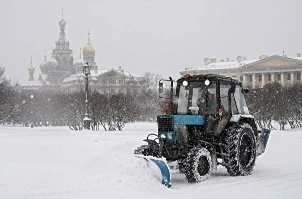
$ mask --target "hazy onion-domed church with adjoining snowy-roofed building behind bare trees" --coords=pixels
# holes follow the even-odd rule
[[[41,73],[38,79],[34,80],[33,74],[36,70],[30,59],[28,82],[16,89],[76,91],[83,88],[82,66],[86,62],[91,66],[88,80],[90,89],[97,89],[102,93],[116,93],[140,90],[145,87],[142,76],[124,71],[122,66],[119,66],[118,69],[98,68],[95,62],[95,48],[90,41],[90,31],[88,31],[87,44],[82,50],[80,48],[79,59],[74,62],[73,51],[69,48],[69,41],[65,35],[66,21],[63,19],[63,14],[58,24],[60,26],[59,38],[55,41],[55,48],[51,48],[51,57],[48,60],[46,59],[46,50],[44,50],[44,60],[39,65]]]

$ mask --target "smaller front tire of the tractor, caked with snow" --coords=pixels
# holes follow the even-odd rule
[[[206,148],[194,147],[184,162],[184,173],[188,182],[205,180],[212,170],[211,154]]]

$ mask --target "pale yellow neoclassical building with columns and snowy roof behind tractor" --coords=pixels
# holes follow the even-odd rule
[[[259,59],[247,60],[238,56],[236,60],[223,60],[217,62],[216,58],[205,58],[202,66],[186,67],[180,71],[186,73],[216,73],[232,76],[240,79],[244,86],[263,87],[266,83],[278,81],[286,86],[296,82],[302,82],[302,57],[297,53],[296,57],[280,55],[261,55]]]

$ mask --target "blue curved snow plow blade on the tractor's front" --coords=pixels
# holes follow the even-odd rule
[[[169,169],[169,166],[167,162],[162,158],[157,158],[154,156],[145,156],[145,155],[138,155],[135,154],[136,157],[142,158],[147,162],[147,165],[149,168],[154,169],[154,166],[156,165],[161,172],[161,183],[170,188],[172,186],[171,184],[171,172]]]

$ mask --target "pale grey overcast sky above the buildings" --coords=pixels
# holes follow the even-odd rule
[[[6,76],[26,82],[32,55],[37,79],[44,48],[48,59],[59,37],[61,8],[74,60],[89,29],[99,69],[123,64],[177,78],[205,57],[302,52],[302,0],[1,0]]]

